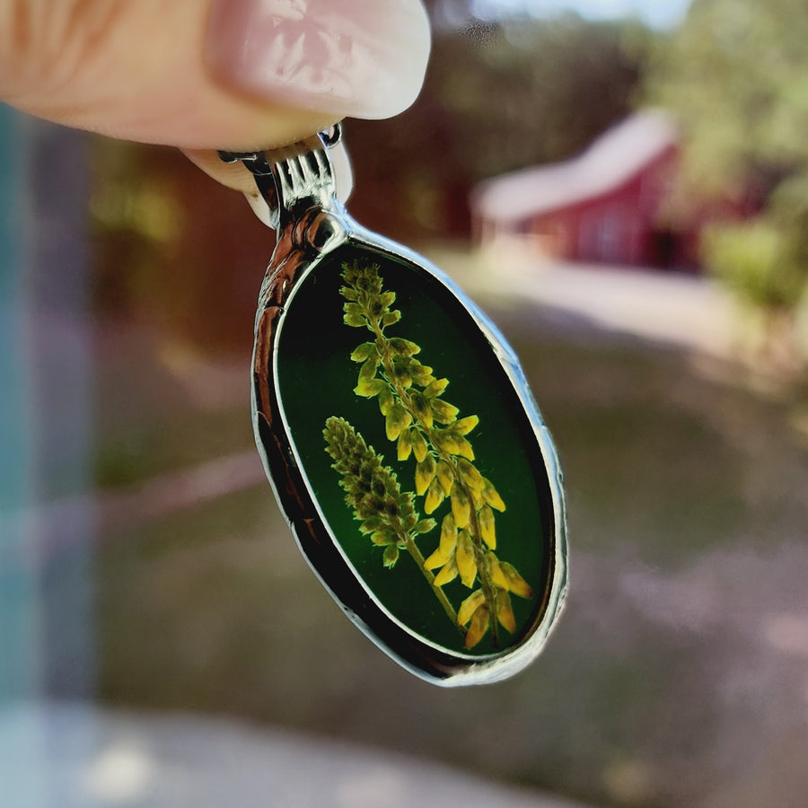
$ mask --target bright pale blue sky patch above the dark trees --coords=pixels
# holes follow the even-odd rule
[[[503,13],[531,13],[536,16],[575,11],[590,20],[637,17],[654,28],[670,28],[681,22],[690,0],[475,0],[482,17]]]

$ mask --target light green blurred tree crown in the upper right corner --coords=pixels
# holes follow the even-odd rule
[[[764,197],[808,162],[808,5],[802,0],[696,0],[656,49],[646,101],[675,110],[687,180]]]

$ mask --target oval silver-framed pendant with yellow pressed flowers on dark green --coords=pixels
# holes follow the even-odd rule
[[[426,681],[499,681],[566,595],[558,457],[495,327],[338,201],[338,136],[221,155],[253,173],[277,230],[256,443],[303,556],[365,635]]]

